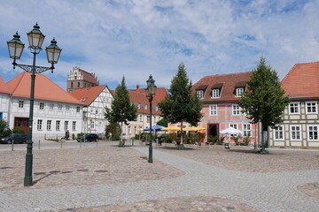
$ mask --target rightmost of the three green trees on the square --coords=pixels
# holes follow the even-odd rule
[[[239,106],[253,124],[261,123],[261,132],[283,122],[284,108],[290,102],[281,87],[277,72],[266,64],[265,57],[253,70],[247,91],[239,99]],[[261,136],[261,153],[268,153]]]

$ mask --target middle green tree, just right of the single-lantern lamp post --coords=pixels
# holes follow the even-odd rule
[[[202,104],[197,95],[191,92],[191,80],[188,79],[184,64],[178,65],[178,71],[171,81],[168,95],[159,102],[159,110],[162,117],[167,118],[171,123],[181,122],[181,132],[183,122],[191,125],[198,125],[201,117]],[[181,144],[178,147],[183,149],[183,133],[181,135]]]

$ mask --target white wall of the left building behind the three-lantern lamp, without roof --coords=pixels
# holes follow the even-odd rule
[[[19,107],[19,101],[23,106]],[[43,109],[40,109],[43,103]],[[21,104],[21,103],[20,103]],[[15,117],[29,117],[30,102],[26,98],[13,97],[10,113],[10,128],[14,127]],[[39,120],[42,120],[41,129],[38,127]],[[48,128],[48,121],[51,121],[51,129]],[[57,121],[60,122],[59,129],[56,129]],[[67,122],[67,129],[66,127]],[[73,123],[75,122],[75,128]],[[34,102],[33,136],[35,139],[65,137],[66,130],[70,135],[82,132],[82,104],[66,102],[38,101]]]

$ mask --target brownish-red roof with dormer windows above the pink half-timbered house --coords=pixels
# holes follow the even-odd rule
[[[237,87],[245,87],[246,82],[250,79],[252,72],[237,72],[221,75],[206,76],[199,79],[192,87],[193,92],[198,89],[205,89],[204,99],[200,101],[233,101],[237,100],[239,97],[235,96],[235,89]],[[221,89],[221,97],[212,99],[212,89]]]

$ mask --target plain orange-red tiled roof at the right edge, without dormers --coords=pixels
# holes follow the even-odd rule
[[[319,62],[295,64],[282,87],[292,98],[319,97]]]

